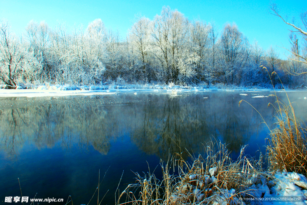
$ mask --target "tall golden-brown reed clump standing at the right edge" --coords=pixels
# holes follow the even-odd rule
[[[300,123],[295,117],[290,101],[287,105],[278,97],[276,99],[278,106],[273,105],[277,111],[276,127],[270,130],[270,138],[266,146],[270,168],[272,170],[285,169],[286,172],[296,172],[306,176],[306,125]]]

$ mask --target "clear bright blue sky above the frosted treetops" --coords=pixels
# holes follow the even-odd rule
[[[281,13],[290,19],[307,9],[307,0],[276,0]],[[54,27],[58,21],[66,22],[68,27],[83,24],[101,18],[107,28],[118,29],[126,36],[135,14],[142,13],[153,19],[160,14],[162,6],[170,6],[185,14],[190,20],[200,18],[203,21],[215,21],[221,30],[226,22],[235,22],[238,28],[252,43],[255,39],[263,49],[270,45],[289,47],[289,26],[267,12],[270,0],[205,0],[205,1],[131,1],[131,0],[0,0],[0,19],[10,21],[14,32],[23,32],[30,20],[45,21]],[[285,59],[284,50],[278,48],[280,57]]]

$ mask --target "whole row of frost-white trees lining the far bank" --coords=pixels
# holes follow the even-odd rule
[[[293,52],[289,60],[282,60],[274,47],[264,51],[257,41],[250,43],[234,23],[219,30],[214,22],[189,20],[169,7],[153,20],[136,17],[125,39],[105,28],[101,19],[71,31],[64,24],[50,28],[44,21],[30,21],[19,36],[2,20],[0,81],[7,88],[20,82],[88,85],[117,79],[275,86],[279,76],[291,88],[302,87],[306,76],[291,74],[306,70],[306,63],[292,59],[303,48],[296,36],[290,40]]]

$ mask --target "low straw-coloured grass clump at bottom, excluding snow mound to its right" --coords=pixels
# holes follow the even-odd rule
[[[145,177],[137,173],[136,183],[128,185],[117,204],[242,204],[239,197],[250,196],[249,187],[262,170],[262,155],[258,161],[248,159],[246,147],[235,161],[221,142],[208,142],[204,157],[174,154],[166,163],[160,161],[162,181],[152,173]],[[184,153],[191,163],[183,159]]]

